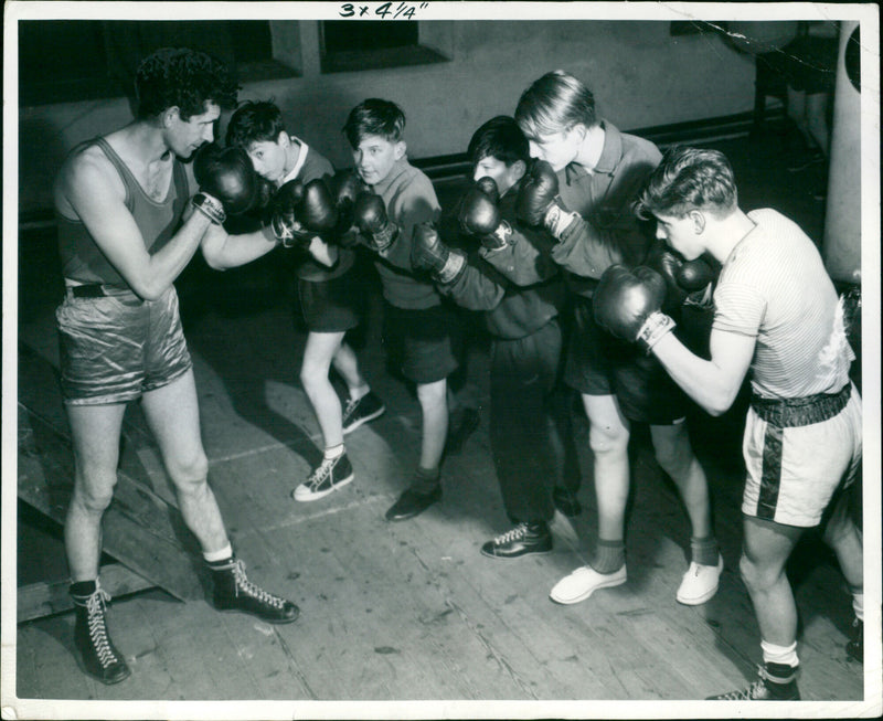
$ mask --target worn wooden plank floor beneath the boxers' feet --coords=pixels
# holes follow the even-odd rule
[[[269,266],[256,267],[252,273]],[[556,517],[553,553],[515,561],[479,553],[482,542],[508,528],[487,412],[464,452],[445,464],[444,501],[416,519],[387,523],[383,513],[416,464],[419,417],[413,394],[384,369],[374,322],[359,354],[387,412],[348,436],[355,481],[320,501],[296,503],[290,491],[319,456],[318,425],[297,381],[304,335],[284,301],[253,298],[243,309],[235,297],[225,299],[249,276],[230,278],[219,279],[208,300],[190,300],[182,290],[210,481],[249,577],[294,600],[301,617],[270,626],[219,614],[201,598],[181,603],[159,590],[115,598],[108,623],[132,676],[111,687],[77,668],[72,614],[22,624],[14,669],[20,718],[35,718],[26,711],[57,699],[129,701],[119,708],[137,718],[168,718],[162,707],[136,703],[157,699],[361,702],[333,707],[336,718],[383,718],[385,707],[365,703],[424,700],[435,703],[390,707],[389,714],[710,717],[721,707],[678,702],[753,679],[758,632],[737,573],[738,414],[711,421],[698,415],[694,425],[726,563],[717,595],[699,607],[674,601],[687,568],[687,521],[646,433],[636,430],[629,582],[560,606],[550,602],[549,591],[585,562],[595,529],[592,459],[581,415],[574,417],[585,510],[573,522]],[[28,308],[20,340],[57,363],[51,305],[44,300]],[[377,306],[374,296],[372,314]],[[487,352],[480,343],[470,356],[469,378],[487,409]],[[54,422],[64,424],[57,409]],[[126,434],[127,474],[173,498],[137,406],[127,414]],[[62,552],[57,539],[47,538],[46,544],[47,552]],[[808,538],[797,555],[790,571],[801,613],[801,692],[806,700],[831,702],[809,704],[813,713],[855,715],[874,701],[865,699],[864,683],[874,692],[880,683],[866,679],[844,653],[850,597],[818,539]],[[460,702],[480,704],[467,713]],[[60,718],[89,717],[88,707],[73,708],[78,715]],[[227,707],[208,708],[191,707],[189,718],[226,714]],[[228,708],[242,718],[278,714],[276,707]],[[295,708],[302,709],[296,715],[322,718],[320,707]]]

